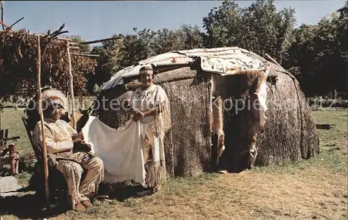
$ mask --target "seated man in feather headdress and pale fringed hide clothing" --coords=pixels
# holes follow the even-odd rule
[[[57,93],[42,93],[47,153],[54,155],[56,167],[65,176],[70,205],[76,211],[84,211],[86,207],[93,206],[90,199],[96,196],[99,184],[104,178],[104,165],[99,157],[88,152],[90,150],[88,146],[84,145],[86,146],[84,151],[77,151],[74,148],[74,143],[84,143],[83,135],[60,119],[61,111],[64,109],[63,100]],[[40,121],[33,130],[33,142],[42,151]]]

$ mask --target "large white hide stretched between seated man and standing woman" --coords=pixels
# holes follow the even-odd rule
[[[145,187],[140,122],[129,120],[113,129],[90,116],[82,132],[91,152],[104,163],[104,182],[134,180]]]

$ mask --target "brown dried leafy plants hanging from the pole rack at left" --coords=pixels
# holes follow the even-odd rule
[[[68,32],[61,29],[58,34]],[[68,94],[68,44],[64,39],[57,39],[58,34],[40,38],[42,86],[52,86]],[[79,53],[79,49],[74,49],[74,52]],[[25,29],[0,33],[0,94],[3,100],[35,95],[36,62],[37,37]],[[88,95],[86,75],[93,73],[96,65],[93,58],[72,56],[76,96]]]

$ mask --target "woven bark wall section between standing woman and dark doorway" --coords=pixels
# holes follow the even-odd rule
[[[181,68],[166,74],[196,73]],[[171,81],[161,86],[171,101],[175,175],[199,175],[211,159],[211,88],[206,77]]]

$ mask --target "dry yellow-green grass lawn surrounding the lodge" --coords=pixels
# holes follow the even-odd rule
[[[21,155],[32,151],[20,119],[22,113],[5,109],[1,115],[1,127],[10,127],[11,135],[23,137],[18,142]],[[97,201],[86,213],[69,211],[55,218],[347,219],[347,109],[313,111],[313,116],[317,123],[335,124],[329,130],[318,130],[321,152],[315,158],[238,174],[172,178],[152,196],[124,202]],[[27,178],[26,174],[19,175],[21,182]],[[36,216],[31,212],[35,211],[28,209],[20,216],[14,212],[0,214],[4,214],[3,219],[28,219]]]

